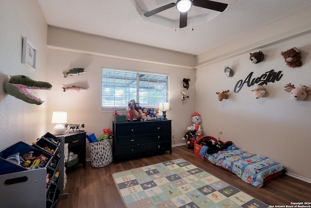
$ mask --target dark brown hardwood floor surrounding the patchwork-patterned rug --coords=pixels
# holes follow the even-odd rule
[[[257,189],[236,175],[194,156],[193,150],[178,146],[173,148],[172,154],[166,151],[155,156],[111,163],[103,168],[92,168],[90,162],[86,163],[86,168],[78,166],[67,172],[68,182],[64,192],[69,193],[69,197],[59,200],[57,208],[123,208],[121,196],[112,178],[113,173],[178,158],[187,160],[267,205],[291,205],[291,202],[311,200],[311,184],[307,182],[281,175]]]

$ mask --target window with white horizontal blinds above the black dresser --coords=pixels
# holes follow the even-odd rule
[[[103,67],[102,109],[122,109],[133,99],[142,107],[169,102],[169,75]]]

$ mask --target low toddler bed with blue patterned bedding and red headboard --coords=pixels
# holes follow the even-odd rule
[[[228,149],[207,154],[208,148],[200,144],[210,139],[217,141],[212,136],[204,136],[196,140],[194,142],[194,155],[236,174],[250,185],[261,188],[264,182],[285,172],[285,167],[282,164],[276,163],[268,157],[243,151],[234,144]]]

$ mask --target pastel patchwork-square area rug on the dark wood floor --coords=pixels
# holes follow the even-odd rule
[[[127,208],[268,208],[184,159],[112,176]]]

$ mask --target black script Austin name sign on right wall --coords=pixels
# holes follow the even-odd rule
[[[251,87],[255,84],[257,85],[266,84],[267,85],[268,82],[279,81],[280,78],[283,76],[282,71],[275,72],[273,69],[262,74],[261,76],[257,78],[252,79],[253,74],[254,72],[249,73],[249,75],[246,77],[244,81],[242,79],[239,80],[234,87],[234,92],[239,93],[245,83],[247,83],[248,87]]]

